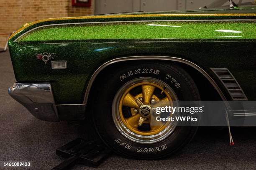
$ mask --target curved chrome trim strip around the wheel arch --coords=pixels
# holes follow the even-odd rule
[[[100,73],[100,71],[102,71],[103,69],[105,69],[107,66],[113,64],[113,63],[118,63],[118,62],[122,62],[122,61],[133,61],[133,60],[160,60],[160,61],[177,61],[180,63],[185,63],[191,67],[193,67],[194,69],[196,69],[197,71],[199,71],[203,76],[205,76],[205,78],[212,84],[212,86],[217,90],[218,94],[220,95],[221,99],[223,99],[223,101],[225,102],[225,105],[227,107],[229,107],[229,104],[227,102],[227,99],[225,97],[225,95],[223,94],[223,92],[220,90],[220,87],[218,86],[218,84],[211,78],[211,76],[209,74],[207,74],[202,68],[200,68],[199,66],[197,66],[195,63],[192,63],[191,61],[182,59],[182,58],[177,58],[177,57],[171,57],[171,56],[130,56],[130,57],[123,57],[123,58],[116,58],[113,60],[110,60],[104,64],[102,64],[92,75],[92,77],[90,78],[90,81],[87,85],[87,89],[85,91],[85,95],[84,95],[84,101],[83,104],[87,104],[88,101],[88,97],[89,97],[89,93],[90,93],[90,89],[92,87],[93,81],[95,80],[96,76]]]

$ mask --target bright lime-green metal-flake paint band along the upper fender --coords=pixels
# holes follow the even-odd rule
[[[256,23],[256,22],[255,22]],[[24,41],[67,41],[95,39],[254,39],[255,23],[248,22],[143,22],[47,26],[33,30]]]

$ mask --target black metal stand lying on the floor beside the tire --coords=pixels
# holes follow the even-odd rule
[[[61,162],[52,170],[67,170],[76,163],[97,167],[108,157],[110,152],[110,149],[100,140],[89,142],[77,138],[56,150],[56,155],[67,158],[67,160]]]

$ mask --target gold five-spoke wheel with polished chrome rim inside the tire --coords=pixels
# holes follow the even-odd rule
[[[177,123],[157,121],[157,107],[174,106],[177,96],[163,81],[137,78],[123,85],[113,100],[112,115],[118,130],[138,143],[155,143],[169,136]],[[168,116],[174,114],[167,113]]]

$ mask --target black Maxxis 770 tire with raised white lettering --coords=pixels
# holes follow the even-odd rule
[[[138,69],[141,69],[140,73],[135,74],[135,70]],[[153,69],[153,71],[142,73],[143,69],[148,71]],[[133,75],[127,76],[129,71],[133,71]],[[122,75],[126,75],[126,78],[124,76],[124,79],[120,78]],[[166,79],[167,75],[172,76],[176,82]],[[97,97],[93,101],[93,106],[97,106],[93,107],[93,122],[101,139],[114,152],[125,157],[143,160],[160,159],[173,154],[189,142],[195,135],[197,127],[177,126],[168,137],[153,144],[137,143],[124,137],[113,122],[112,102],[121,86],[138,77],[152,77],[164,81],[172,87],[179,100],[200,100],[200,94],[191,76],[174,64],[128,63],[101,76],[101,84],[96,85]]]

